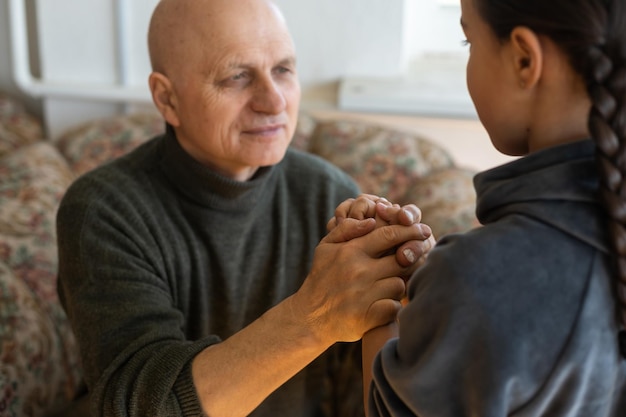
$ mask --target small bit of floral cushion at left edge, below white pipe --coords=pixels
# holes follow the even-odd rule
[[[41,122],[18,101],[0,93],[0,156],[42,137]]]

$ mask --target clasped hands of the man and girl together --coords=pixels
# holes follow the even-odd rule
[[[420,220],[417,206],[371,194],[341,203],[294,294],[294,314],[329,345],[395,320],[406,281],[435,245]]]

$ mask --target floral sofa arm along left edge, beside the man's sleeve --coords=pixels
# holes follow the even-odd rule
[[[47,142],[0,157],[2,416],[42,415],[79,385],[76,343],[56,292],[55,216],[73,178]]]

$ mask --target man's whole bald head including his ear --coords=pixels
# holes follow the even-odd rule
[[[148,38],[153,102],[187,153],[237,180],[284,157],[300,83],[271,0],[161,0]]]

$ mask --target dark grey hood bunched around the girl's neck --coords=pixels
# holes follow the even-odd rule
[[[474,185],[483,224],[518,213],[608,250],[592,140],[534,152],[479,173]]]

